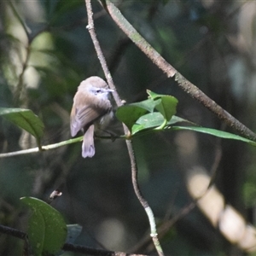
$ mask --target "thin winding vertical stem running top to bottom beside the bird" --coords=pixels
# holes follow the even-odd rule
[[[86,28],[90,32],[90,37],[91,37],[94,47],[96,49],[96,54],[99,58],[99,61],[101,62],[105,77],[108,80],[108,84],[109,84],[110,88],[114,90],[114,93],[113,93],[114,100],[118,106],[121,106],[122,102],[119,98],[117,91],[115,90],[115,86],[113,84],[113,79],[112,79],[111,73],[108,70],[107,62],[105,60],[104,55],[102,54],[101,46],[96,38],[94,21],[93,21],[93,17],[92,17],[93,12],[91,9],[91,1],[85,0],[85,6],[86,6],[87,15],[88,15],[88,26],[86,26]],[[125,131],[125,134],[129,132],[125,125],[124,125],[124,131]],[[137,162],[136,162],[136,157],[135,157],[135,154],[133,151],[132,143],[130,140],[126,140],[126,146],[127,146],[128,153],[130,156],[130,161],[131,161],[131,180],[132,180],[133,189],[135,191],[135,194],[137,195],[138,201],[140,201],[141,205],[143,206],[145,212],[148,215],[148,221],[149,221],[150,230],[151,230],[150,236],[152,237],[152,240],[154,242],[154,247],[155,247],[157,253],[160,256],[162,256],[162,255],[164,255],[164,253],[162,251],[162,248],[160,247],[160,241],[158,239],[158,235],[156,232],[154,213],[152,212],[151,208],[148,206],[148,201],[146,201],[144,199],[143,194],[139,188],[138,181],[137,181]]]

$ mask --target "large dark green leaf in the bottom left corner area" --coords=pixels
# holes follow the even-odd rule
[[[61,213],[37,198],[22,197],[20,201],[32,209],[27,236],[34,255],[58,253],[67,237],[67,225]]]

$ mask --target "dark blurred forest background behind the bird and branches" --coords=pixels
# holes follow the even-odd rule
[[[113,2],[166,61],[247,127],[256,130],[256,2]],[[102,6],[97,1],[92,3],[97,37],[122,99],[146,99],[146,89],[176,96],[177,116],[231,131],[172,79],[166,79],[125,38]],[[31,31],[30,40],[20,19],[26,21]],[[0,3],[0,107],[30,108],[37,113],[45,125],[44,145],[70,138],[69,113],[80,81],[91,75],[104,78],[86,25],[84,1]],[[109,130],[123,133],[117,120],[113,120]],[[183,148],[192,147],[191,159],[180,153],[181,143]],[[33,147],[31,137],[1,119],[2,152]],[[134,149],[139,183],[159,224],[189,205],[186,173],[195,162],[210,171],[217,149],[222,158],[216,186],[227,203],[247,221],[254,222],[253,147],[173,131],[137,137]],[[147,216],[132,188],[124,141],[97,140],[92,159],[81,157],[80,143],[1,159],[0,224],[26,231],[27,211],[20,205],[20,197],[47,200],[54,189],[61,189],[63,195],[52,206],[63,214],[67,224],[83,226],[76,243],[101,247],[101,242],[103,247],[115,251],[152,253],[150,248],[141,247],[136,252],[132,249],[149,230]],[[243,255],[212,228],[196,207],[172,225],[160,241],[166,255]],[[23,241],[0,236],[1,255],[20,255],[22,247]]]

